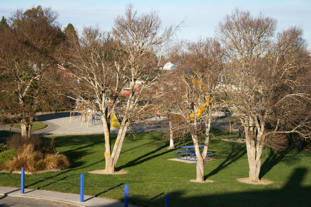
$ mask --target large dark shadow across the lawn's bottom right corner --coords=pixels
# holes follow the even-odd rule
[[[173,206],[309,206],[311,186],[302,186],[301,183],[306,179],[306,168],[296,168],[286,184],[280,189],[271,190],[271,185],[259,186],[253,184],[239,183],[245,188],[256,188],[262,190],[248,190],[240,192],[230,192],[216,194],[211,191],[206,195],[187,196],[187,191],[173,191],[169,193],[169,202]],[[237,182],[237,181],[236,181]],[[238,182],[237,182],[238,184]],[[197,185],[202,185],[197,183]],[[212,184],[204,184],[212,185]],[[234,188],[234,186],[232,186]],[[199,192],[197,192],[199,193]],[[149,202],[130,196],[129,202],[136,205],[151,206]],[[164,206],[164,201],[157,205]]]

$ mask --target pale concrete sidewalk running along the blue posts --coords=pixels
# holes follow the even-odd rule
[[[84,202],[80,202],[80,195],[71,193],[61,193],[56,191],[45,191],[45,190],[35,190],[26,189],[25,193],[21,194],[20,188],[0,186],[0,200],[5,196],[15,196],[24,198],[34,198],[43,200],[53,200],[58,202],[63,202],[74,206],[105,206],[105,207],[123,207],[124,203],[108,200],[104,198],[97,198],[92,196],[84,195]],[[128,205],[135,207],[134,205]]]

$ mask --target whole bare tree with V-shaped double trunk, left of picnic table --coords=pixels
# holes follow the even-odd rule
[[[162,30],[157,12],[138,15],[129,5],[125,16],[115,19],[112,35],[100,32],[97,27],[86,27],[80,37],[67,34],[67,43],[58,50],[59,62],[77,77],[74,85],[78,87],[71,88],[71,91],[82,97],[94,97],[97,101],[94,106],[104,125],[105,173],[115,172],[130,123],[143,117],[142,114],[148,112],[150,100],[157,96],[152,90],[152,83],[157,78],[159,67],[179,49],[174,48],[173,53],[168,53],[164,50],[168,45],[162,47],[173,34],[173,27]],[[108,116],[105,100],[117,99],[123,88],[128,89],[129,97],[121,110],[122,122],[111,150],[112,115]],[[114,111],[115,105],[112,107],[111,111]]]

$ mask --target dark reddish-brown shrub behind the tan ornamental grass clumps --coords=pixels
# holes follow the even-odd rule
[[[32,135],[30,138],[22,137],[21,134],[15,134],[7,140],[7,147],[12,150],[23,151],[24,145],[32,145],[34,151],[42,149],[42,137]]]

